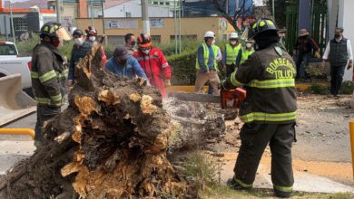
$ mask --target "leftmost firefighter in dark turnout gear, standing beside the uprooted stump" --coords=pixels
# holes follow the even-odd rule
[[[60,41],[70,40],[66,30],[56,23],[44,24],[40,33],[41,43],[34,47],[31,79],[34,99],[37,101],[34,146],[44,142],[44,122],[54,118],[61,111],[64,98],[64,58],[57,47]]]

